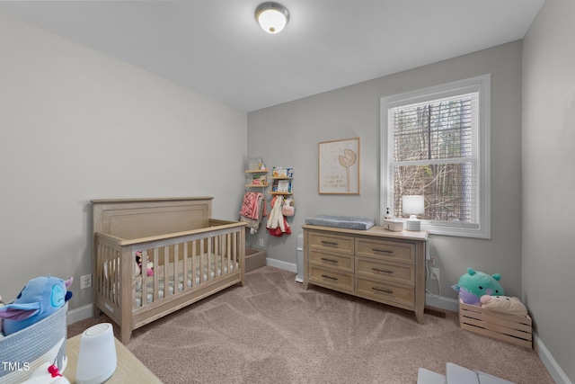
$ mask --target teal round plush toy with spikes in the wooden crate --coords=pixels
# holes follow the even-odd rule
[[[499,273],[487,274],[467,268],[467,273],[462,275],[456,285],[451,288],[459,293],[459,299],[465,304],[481,307],[480,301],[483,295],[505,295],[500,284]]]

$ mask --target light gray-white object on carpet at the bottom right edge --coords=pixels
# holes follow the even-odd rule
[[[474,371],[456,365],[453,362],[446,364],[446,376],[420,368],[417,384],[515,384],[482,371]]]

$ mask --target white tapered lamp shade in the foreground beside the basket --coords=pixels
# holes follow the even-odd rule
[[[75,371],[77,384],[100,384],[116,371],[118,359],[110,323],[97,324],[84,331],[80,339],[78,365]]]

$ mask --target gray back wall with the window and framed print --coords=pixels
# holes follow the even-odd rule
[[[491,73],[491,239],[430,237],[431,253],[441,270],[441,295],[467,267],[499,272],[509,295],[521,295],[521,41],[377,78],[248,113],[248,155],[269,165],[294,167],[296,216],[301,232],[306,217],[318,214],[379,218],[380,98],[430,85]],[[318,142],[361,140],[360,195],[317,192]],[[296,263],[296,237],[252,235],[264,239],[268,257]],[[439,293],[438,281],[428,281]]]

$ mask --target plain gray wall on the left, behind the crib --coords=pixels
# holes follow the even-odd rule
[[[51,273],[75,277],[70,309],[92,302],[91,199],[214,196],[214,217],[238,218],[245,112],[4,12],[0,52],[5,300]]]

